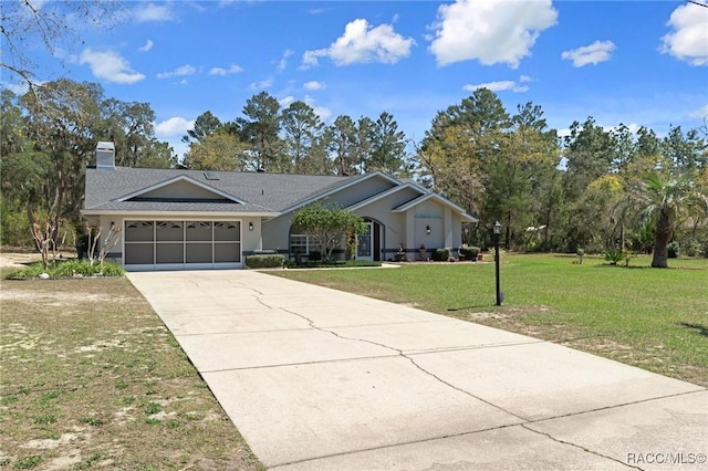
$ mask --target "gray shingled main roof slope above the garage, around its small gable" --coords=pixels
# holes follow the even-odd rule
[[[218,171],[218,180],[207,179],[202,170],[152,169],[115,167],[86,169],[84,209],[126,211],[219,211],[219,212],[282,212],[302,201],[345,185],[358,177],[314,175],[258,174]],[[199,201],[119,201],[128,195],[173,180],[191,178],[230,195],[238,202]],[[361,177],[361,176],[360,176]]]

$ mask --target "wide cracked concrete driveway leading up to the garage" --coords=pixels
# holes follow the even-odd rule
[[[131,273],[279,470],[708,469],[708,390],[254,271]]]

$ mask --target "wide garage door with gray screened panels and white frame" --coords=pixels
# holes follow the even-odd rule
[[[126,270],[241,268],[239,221],[125,221]]]

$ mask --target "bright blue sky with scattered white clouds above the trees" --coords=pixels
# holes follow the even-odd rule
[[[157,137],[180,157],[180,137],[199,114],[235,119],[261,91],[283,106],[309,103],[326,124],[385,111],[415,140],[438,111],[479,86],[511,114],[518,104],[541,105],[561,132],[594,116],[664,135],[708,115],[708,8],[685,1],[125,7],[125,21],[82,30],[82,44],[54,51],[62,57],[38,52],[39,78],[97,82],[107,97],[149,103]]]

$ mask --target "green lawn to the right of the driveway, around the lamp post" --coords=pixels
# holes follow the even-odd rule
[[[488,257],[488,255],[487,255]],[[504,254],[501,307],[493,263],[271,272],[561,343],[708,386],[708,260]]]

